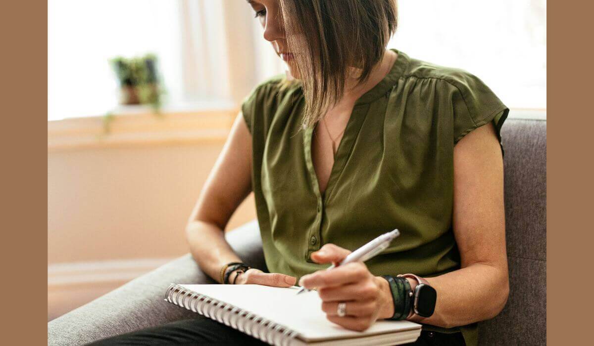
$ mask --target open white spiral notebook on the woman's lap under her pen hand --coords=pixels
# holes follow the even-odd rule
[[[316,291],[297,296],[298,289],[171,284],[165,300],[271,345],[400,345],[421,334],[421,325],[407,320],[378,320],[363,332],[343,328],[326,319]]]

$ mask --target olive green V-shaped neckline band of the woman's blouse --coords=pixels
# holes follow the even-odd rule
[[[384,78],[382,78],[380,82],[375,84],[374,87],[360,96],[353,105],[349,120],[346,123],[345,132],[343,133],[343,137],[340,139],[339,145],[336,148],[334,162],[330,169],[330,176],[328,176],[328,182],[326,183],[326,189],[324,189],[324,193],[321,193],[320,191],[320,182],[318,180],[317,173],[315,173],[312,157],[312,134],[314,132],[315,126],[309,127],[304,131],[305,161],[311,179],[312,188],[314,189],[318,199],[318,208],[326,207],[326,204],[331,197],[334,186],[336,185],[336,180],[339,179],[340,174],[345,168],[346,161],[350,157],[350,153],[352,152],[356,138],[359,137],[359,131],[361,130],[369,110],[369,103],[390,91],[393,85],[400,78],[400,75],[402,75],[403,71],[405,71],[409,61],[408,56],[397,49],[390,50],[398,54],[396,61],[394,61],[390,68],[390,71],[388,71],[388,73],[384,76]]]

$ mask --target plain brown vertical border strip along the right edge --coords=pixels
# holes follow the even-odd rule
[[[551,345],[586,344],[592,328],[594,227],[586,219],[593,205],[593,49],[586,42],[593,10],[587,1],[549,1],[547,8],[546,339]]]

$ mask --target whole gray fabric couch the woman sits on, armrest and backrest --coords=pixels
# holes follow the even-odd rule
[[[503,312],[479,324],[483,345],[546,344],[546,120],[508,119],[505,149],[505,213],[510,297]],[[266,270],[258,224],[226,235],[247,264]],[[110,335],[192,318],[163,301],[171,282],[215,283],[190,255],[72,310],[48,323],[49,345],[80,345]]]

